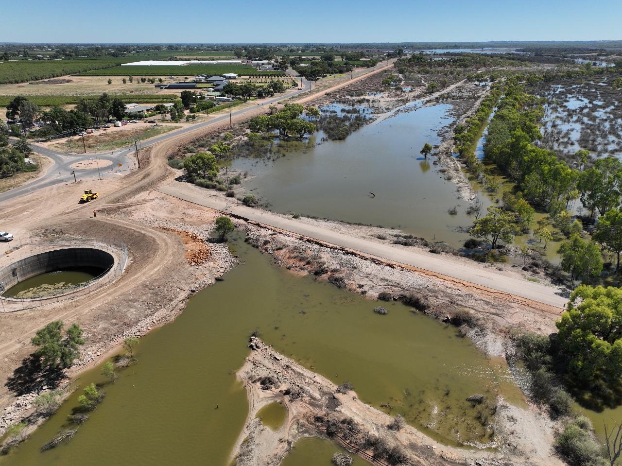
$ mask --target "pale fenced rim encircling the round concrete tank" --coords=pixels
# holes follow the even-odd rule
[[[26,248],[26,246],[35,246],[39,248],[39,250],[32,250],[31,248]],[[63,286],[59,289],[51,289],[47,292],[43,291],[35,297],[12,298],[0,294],[0,312],[17,312],[20,310],[34,309],[35,307],[63,301],[72,301],[73,299],[86,296],[121,276],[128,263],[128,246],[126,246],[123,241],[118,241],[114,238],[95,238],[89,240],[47,240],[45,238],[30,237],[24,240],[24,238],[22,238],[20,245],[11,249],[11,252],[7,255],[9,262],[4,264],[4,266],[53,249],[89,247],[103,249],[104,251],[107,249],[108,251],[114,251],[115,263],[113,266],[89,281]],[[4,261],[0,261],[0,266],[3,266],[3,263]],[[2,287],[0,287],[0,293],[1,292],[4,292]]]

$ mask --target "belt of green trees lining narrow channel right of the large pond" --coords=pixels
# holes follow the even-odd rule
[[[497,102],[498,96],[503,98]],[[514,202],[504,195],[501,207],[490,207],[487,215],[476,218],[471,235],[490,243],[511,242],[514,235],[529,231],[534,207],[549,213],[549,218],[568,239],[560,245],[562,269],[570,274],[571,286],[581,278],[589,283],[603,270],[601,250],[617,256],[620,268],[622,253],[622,162],[616,157],[592,161],[588,151],[580,150],[570,167],[554,151],[537,146],[542,137],[539,122],[544,116],[542,100],[524,92],[518,78],[509,78],[482,102],[467,126],[456,129],[458,151],[463,161],[476,173],[483,173],[488,187],[490,175],[473,154],[481,127],[494,105],[496,112],[488,126],[484,156],[516,183]],[[596,223],[591,238],[583,234],[582,223],[572,220],[569,203],[579,199],[589,212],[588,221]],[[540,227],[536,236],[545,243],[552,238],[547,228]]]

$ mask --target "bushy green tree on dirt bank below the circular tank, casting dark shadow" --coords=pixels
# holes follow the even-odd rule
[[[42,359],[44,365],[50,368],[66,369],[78,358],[78,348],[85,343],[82,338],[83,330],[78,324],[72,324],[64,331],[65,324],[62,320],[50,322],[43,329],[37,330],[32,337],[32,344],[39,347],[35,355]]]

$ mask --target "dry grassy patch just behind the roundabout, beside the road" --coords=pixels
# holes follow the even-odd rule
[[[160,134],[168,133],[174,129],[179,129],[181,126],[152,126],[150,128],[136,128],[129,129],[128,131],[110,131],[109,133],[91,134],[85,137],[86,151],[112,151],[119,147],[129,146],[134,144],[134,139],[144,141],[150,137],[159,136]],[[54,149],[63,152],[76,152],[82,149],[81,137],[73,137],[67,139],[65,142],[59,144],[53,144]]]

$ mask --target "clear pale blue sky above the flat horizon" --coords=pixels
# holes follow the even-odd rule
[[[622,39],[622,0],[0,0],[0,42]]]

